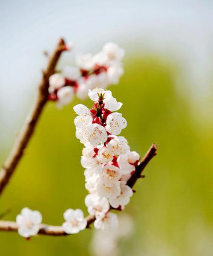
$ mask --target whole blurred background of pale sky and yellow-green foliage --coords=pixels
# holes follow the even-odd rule
[[[73,64],[76,53],[95,53],[115,41],[127,53],[120,84],[109,87],[124,104],[122,135],[141,156],[151,143],[159,145],[125,209],[134,228],[117,255],[212,256],[213,2],[1,0],[0,35],[1,163],[35,99],[47,61],[43,50],[51,51],[60,36],[75,43],[60,68]],[[87,214],[82,144],[73,123],[78,103],[61,111],[52,102],[46,106],[0,198],[0,212],[11,209],[4,219],[14,220],[25,206],[55,225],[67,208]],[[0,232],[0,254],[94,255],[88,250],[93,233],[26,241]]]

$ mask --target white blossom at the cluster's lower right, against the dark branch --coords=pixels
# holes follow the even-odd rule
[[[130,197],[133,195],[132,189],[126,185],[126,182],[121,181],[121,194],[117,198],[110,198],[109,203],[113,208],[118,208],[119,205],[124,206],[129,204]]]

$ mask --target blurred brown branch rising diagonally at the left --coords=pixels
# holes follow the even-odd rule
[[[0,195],[3,192],[6,184],[9,182],[9,179],[13,175],[14,170],[16,169],[23,156],[27,144],[32,137],[40,114],[42,113],[43,108],[48,100],[49,76],[55,72],[56,64],[58,63],[60,55],[64,50],[65,42],[63,39],[60,39],[54,53],[49,58],[46,69],[43,70],[43,76],[38,87],[38,94],[35,105],[32,108],[28,118],[26,119],[20,134],[18,135],[12,151],[9,154],[9,157],[6,159],[0,171]]]

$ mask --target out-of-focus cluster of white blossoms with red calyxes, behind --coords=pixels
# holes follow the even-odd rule
[[[115,43],[105,44],[95,55],[78,55],[77,67],[66,66],[61,73],[49,77],[49,100],[56,101],[60,108],[69,104],[75,94],[85,99],[88,90],[118,84],[124,73],[123,57],[124,49]]]

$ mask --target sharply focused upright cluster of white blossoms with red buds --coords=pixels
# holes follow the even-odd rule
[[[88,212],[95,215],[95,228],[109,230],[118,225],[117,215],[110,207],[124,209],[132,196],[127,181],[135,172],[140,156],[130,151],[127,140],[117,136],[127,126],[127,121],[118,111],[122,103],[111,91],[89,90],[93,108],[78,104],[74,111],[76,137],[84,144],[81,165],[86,169],[85,187],[90,192],[85,198]]]

